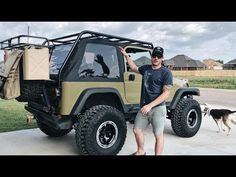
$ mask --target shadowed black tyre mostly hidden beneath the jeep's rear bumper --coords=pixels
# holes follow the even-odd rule
[[[45,123],[40,122],[38,119],[36,119],[36,121],[39,129],[50,137],[61,137],[68,134],[72,130],[72,128],[67,130],[57,130],[53,127],[46,125]]]

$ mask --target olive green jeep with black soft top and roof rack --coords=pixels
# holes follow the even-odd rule
[[[74,129],[81,155],[119,153],[127,122],[139,110],[142,79],[130,71],[119,46],[140,65],[142,58],[150,59],[152,43],[82,31],[55,39],[20,35],[0,44],[6,53],[1,98],[26,102],[50,137]],[[192,137],[201,125],[201,108],[193,99],[200,93],[180,83],[167,101],[167,118],[178,136]]]

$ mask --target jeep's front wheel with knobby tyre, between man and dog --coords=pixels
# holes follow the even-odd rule
[[[182,98],[171,116],[171,126],[181,137],[194,136],[201,125],[202,112],[199,103],[190,98]]]

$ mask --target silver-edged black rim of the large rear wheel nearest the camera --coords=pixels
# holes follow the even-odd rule
[[[118,128],[112,121],[103,122],[97,130],[96,140],[100,147],[110,148],[117,140]]]

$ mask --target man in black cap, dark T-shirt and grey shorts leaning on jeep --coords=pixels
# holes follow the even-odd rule
[[[170,95],[173,85],[171,71],[162,66],[164,49],[155,47],[151,54],[151,65],[137,67],[126,51],[120,47],[130,69],[143,75],[140,111],[138,112],[133,132],[137,143],[137,151],[133,155],[145,155],[143,130],[152,125],[155,136],[155,155],[161,155],[164,147],[164,126],[166,119],[165,101]]]

